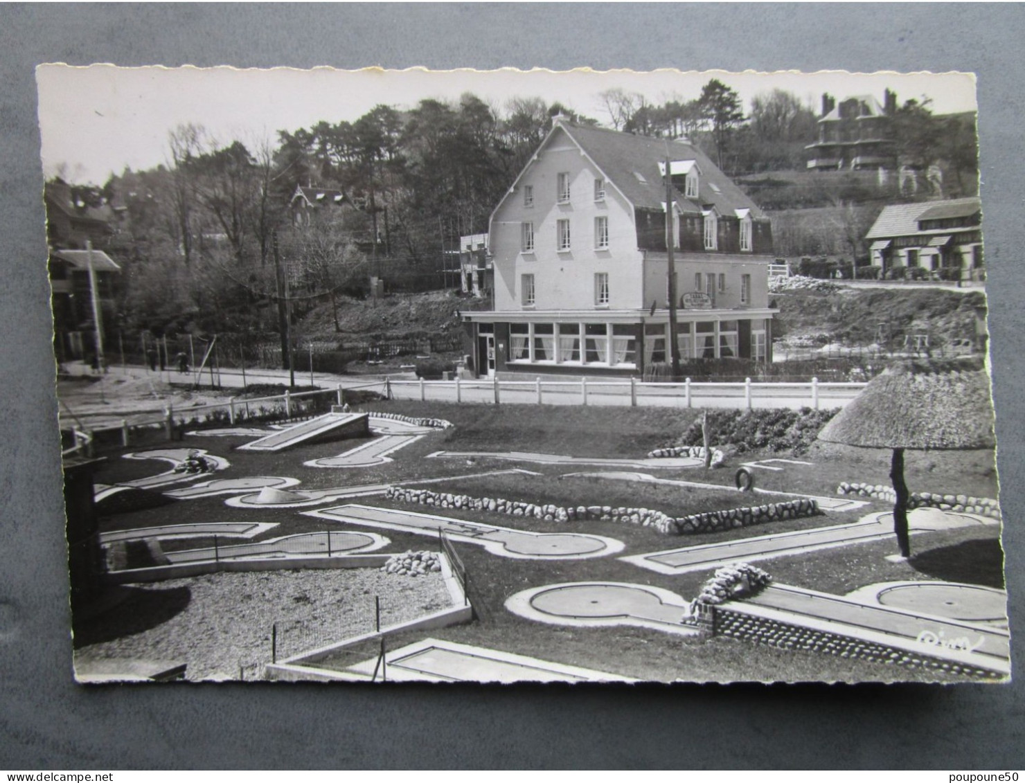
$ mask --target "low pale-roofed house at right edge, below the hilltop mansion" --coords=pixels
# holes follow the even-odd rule
[[[872,265],[879,266],[883,275],[897,267],[919,266],[938,277],[983,277],[982,202],[978,197],[890,204],[865,241]]]

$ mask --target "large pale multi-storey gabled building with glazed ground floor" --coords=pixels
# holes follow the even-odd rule
[[[556,117],[489,245],[494,310],[462,314],[478,375],[643,375],[673,336],[685,363],[771,360],[769,219],[686,140]]]

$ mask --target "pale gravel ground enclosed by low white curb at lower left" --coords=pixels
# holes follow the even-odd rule
[[[412,620],[451,605],[440,574],[410,578],[377,569],[261,571],[206,574],[134,585],[145,590],[188,588],[188,606],[166,622],[110,642],[83,647],[77,661],[105,658],[179,660],[189,679],[262,677],[278,624],[278,658],[374,629],[374,596],[381,625]],[[116,622],[113,607],[97,622]],[[111,615],[115,617],[112,618]]]

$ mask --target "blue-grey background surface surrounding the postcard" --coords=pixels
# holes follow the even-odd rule
[[[1023,665],[1023,9],[0,6],[0,768],[1022,768],[1003,687],[72,684],[39,63],[974,71],[1015,663]],[[1020,670],[1020,669],[1019,669]]]

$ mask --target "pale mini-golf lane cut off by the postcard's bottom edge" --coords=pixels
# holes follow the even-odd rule
[[[425,638],[389,650],[384,655],[387,679],[427,683],[636,683],[607,671],[567,666],[526,655],[485,647]],[[350,666],[346,671],[373,676],[377,658]],[[380,672],[377,675],[380,679]]]

